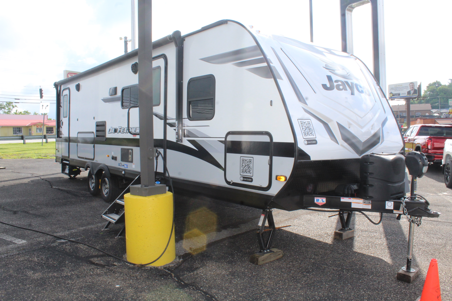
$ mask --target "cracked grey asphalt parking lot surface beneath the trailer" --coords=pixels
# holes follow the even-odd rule
[[[52,159],[4,159],[0,166],[6,167],[0,170],[0,221],[125,255],[125,239],[115,238],[122,226],[102,230],[108,204],[89,194],[87,172],[71,180]],[[291,225],[273,241],[284,256],[257,266],[249,258],[258,251],[253,230],[260,210],[176,191],[178,256],[161,268],[131,266],[84,245],[0,224],[0,300],[414,301],[436,258],[442,300],[451,301],[452,190],[440,167],[429,167],[418,193],[443,214],[415,229],[414,265],[421,273],[410,284],[395,279],[406,262],[403,217],[384,214],[375,226],[354,214],[355,237],[339,241],[333,238],[337,216],[274,210],[277,227]],[[370,217],[378,220],[376,213]],[[194,229],[201,245],[184,240]]]

